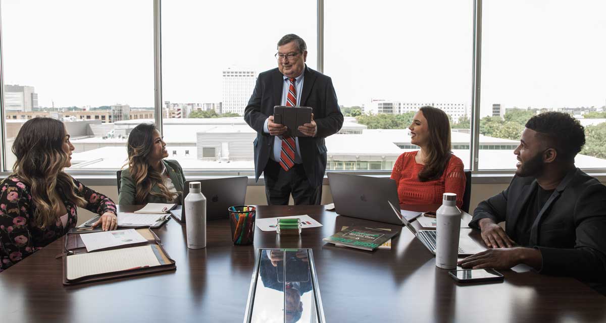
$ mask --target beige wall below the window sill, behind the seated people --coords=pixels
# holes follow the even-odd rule
[[[479,202],[484,199],[490,198],[490,196],[499,193],[500,191],[507,188],[508,184],[480,184],[474,183],[471,187],[471,212],[473,214],[473,209],[478,205]],[[98,191],[99,193],[103,193],[104,195],[109,196],[113,201],[118,201],[118,190],[115,186],[110,185],[93,185],[90,186],[93,190]],[[328,204],[333,202],[333,197],[330,194],[329,185],[322,186],[322,204]],[[265,199],[265,186],[263,185],[248,185],[246,190],[246,198],[245,203],[249,205],[265,205],[267,201]],[[292,198],[290,199],[290,204],[293,204]],[[93,217],[93,213],[79,209],[78,210],[78,224],[81,224],[84,221]]]

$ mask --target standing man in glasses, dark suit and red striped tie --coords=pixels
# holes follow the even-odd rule
[[[269,205],[320,204],[326,170],[324,138],[338,132],[343,115],[328,76],[305,65],[307,45],[288,34],[278,42],[278,68],[259,74],[244,119],[257,132],[255,178],[265,178]],[[298,130],[303,137],[282,136],[287,128],[273,122],[273,107],[311,107],[311,122]]]

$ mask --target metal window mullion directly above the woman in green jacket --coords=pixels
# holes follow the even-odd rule
[[[162,32],[161,0],[153,1],[153,56],[154,56],[154,121],[162,134]]]

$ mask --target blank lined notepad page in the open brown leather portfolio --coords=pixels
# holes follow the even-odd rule
[[[67,279],[160,265],[151,245],[67,256]]]

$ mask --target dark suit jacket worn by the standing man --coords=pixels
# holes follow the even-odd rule
[[[273,115],[273,107],[281,105],[284,75],[274,68],[259,74],[253,95],[244,110],[244,120],[256,130],[255,145],[255,178],[259,176],[273,153],[274,138],[265,133],[263,125],[268,116]],[[313,119],[318,126],[315,137],[299,137],[301,159],[305,175],[311,186],[322,184],[326,170],[326,145],[324,138],[341,130],[343,115],[331,79],[305,65],[303,88],[301,90],[302,107],[313,108]]]

